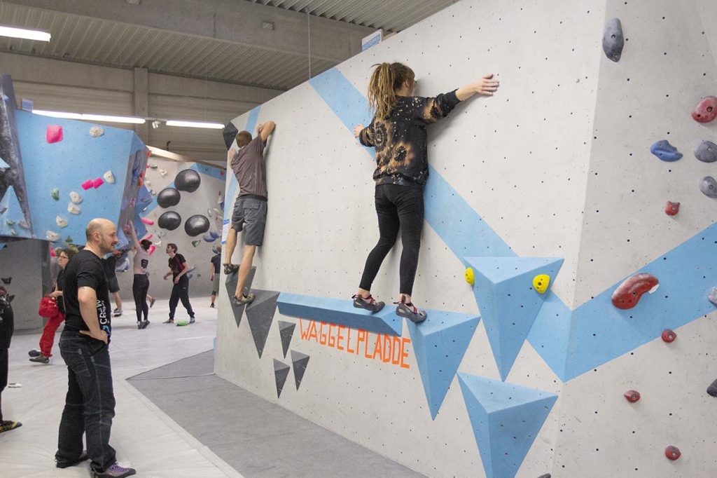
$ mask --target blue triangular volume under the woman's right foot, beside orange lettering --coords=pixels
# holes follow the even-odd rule
[[[480,317],[445,311],[427,312],[428,318],[424,322],[407,321],[407,324],[428,408],[435,420]]]

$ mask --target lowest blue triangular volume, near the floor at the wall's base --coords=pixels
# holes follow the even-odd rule
[[[513,478],[558,395],[458,373],[458,381],[488,478]]]

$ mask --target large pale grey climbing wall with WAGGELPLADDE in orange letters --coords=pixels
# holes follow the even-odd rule
[[[229,140],[277,127],[257,301],[221,291],[216,372],[429,476],[717,474],[717,121],[691,114],[717,94],[717,12],[673,3],[462,0],[234,119]],[[372,288],[386,308],[350,300],[378,238],[352,129],[382,61],[419,95],[500,80],[428,128],[422,324],[390,304],[400,243]],[[230,178],[225,220],[236,195]]]

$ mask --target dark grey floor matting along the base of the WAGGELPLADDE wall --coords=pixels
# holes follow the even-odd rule
[[[422,477],[213,373],[212,350],[128,378],[246,477]]]

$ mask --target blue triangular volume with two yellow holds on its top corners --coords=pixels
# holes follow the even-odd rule
[[[467,257],[475,273],[473,295],[483,317],[500,378],[505,380],[548,294],[533,289],[533,277],[547,274],[551,281],[561,258]]]

